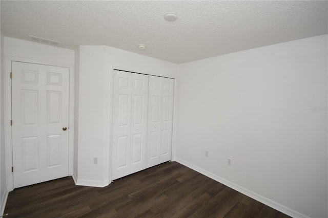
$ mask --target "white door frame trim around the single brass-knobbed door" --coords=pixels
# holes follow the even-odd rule
[[[5,130],[5,162],[6,162],[6,177],[7,177],[7,190],[12,191],[13,173],[11,167],[13,165],[12,154],[12,128],[10,125],[11,120],[11,62],[26,62],[34,64],[43,64],[56,67],[64,67],[69,69],[69,141],[68,141],[68,176],[73,175],[73,144],[74,144],[74,66],[65,66],[65,64],[45,62],[33,60],[28,58],[21,58],[15,56],[5,56],[5,71],[4,71],[4,130]]]

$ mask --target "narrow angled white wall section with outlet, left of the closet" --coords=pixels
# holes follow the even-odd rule
[[[77,184],[105,186],[108,176],[103,174],[105,113],[105,46],[79,48],[79,99],[78,99],[78,172]],[[93,158],[98,164],[93,164]]]

